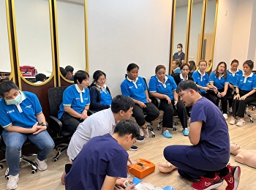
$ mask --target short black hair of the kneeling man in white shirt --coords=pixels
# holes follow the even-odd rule
[[[127,112],[129,108],[134,107],[134,105],[135,103],[130,97],[120,94],[113,98],[111,110],[113,113],[118,113],[121,110]]]

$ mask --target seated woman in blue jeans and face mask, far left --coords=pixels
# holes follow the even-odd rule
[[[9,167],[7,189],[16,189],[19,180],[20,150],[26,140],[39,148],[35,159],[40,171],[47,170],[46,158],[54,148],[47,132],[45,115],[35,94],[19,91],[18,86],[7,80],[0,83],[1,136],[6,145],[5,158]]]

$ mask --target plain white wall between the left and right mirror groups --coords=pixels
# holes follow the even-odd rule
[[[87,2],[89,73],[92,77],[97,69],[104,71],[113,96],[121,93],[128,64],[138,64],[139,75],[147,79],[154,75],[157,64],[168,65],[169,0]]]

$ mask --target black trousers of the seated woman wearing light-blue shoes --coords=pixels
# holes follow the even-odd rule
[[[183,129],[187,128],[187,110],[185,105],[181,101],[178,101],[175,106],[174,100],[172,100],[172,104],[168,104],[166,99],[160,99],[159,110],[164,111],[162,126],[168,128],[173,127],[173,113],[176,110],[178,118],[181,121],[181,126]]]

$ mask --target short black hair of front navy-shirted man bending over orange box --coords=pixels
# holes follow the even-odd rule
[[[125,134],[132,134],[132,139],[140,137],[140,129],[132,120],[121,120],[116,123],[114,133],[117,133],[119,137],[124,137]]]

